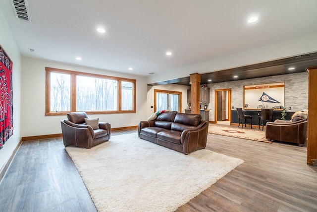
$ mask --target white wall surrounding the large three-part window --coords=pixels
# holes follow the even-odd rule
[[[45,116],[45,67],[136,79],[136,113],[97,114],[89,117],[109,122],[111,128],[137,126],[141,120],[147,119],[147,114],[144,113],[147,84],[143,76],[22,57],[22,137],[59,134],[60,120],[66,118]]]

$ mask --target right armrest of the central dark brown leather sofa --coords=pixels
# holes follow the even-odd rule
[[[183,144],[183,153],[188,154],[198,149],[203,149],[207,144],[209,123],[202,121],[196,128],[184,130],[180,141]]]

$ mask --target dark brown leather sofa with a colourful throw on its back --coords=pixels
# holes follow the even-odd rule
[[[201,119],[199,114],[164,112],[139,123],[139,138],[188,154],[206,147],[209,123]]]

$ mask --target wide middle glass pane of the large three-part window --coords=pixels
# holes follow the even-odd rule
[[[117,110],[117,81],[76,76],[77,111]]]

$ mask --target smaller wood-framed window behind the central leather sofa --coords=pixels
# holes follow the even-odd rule
[[[154,89],[155,111],[171,110],[181,112],[182,92]]]

